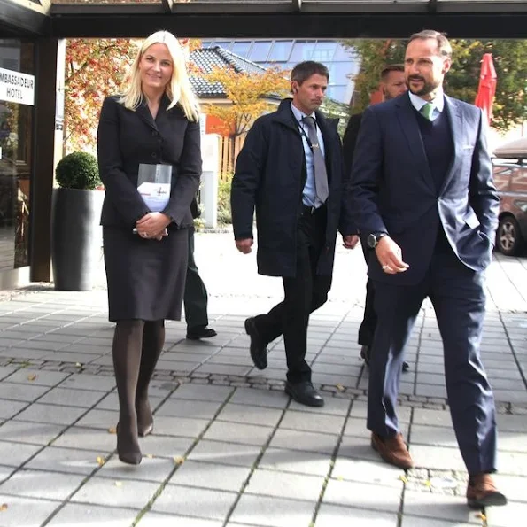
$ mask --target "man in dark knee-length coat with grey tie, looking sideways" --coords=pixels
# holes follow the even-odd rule
[[[256,210],[258,271],[283,278],[283,302],[245,321],[252,360],[257,368],[267,368],[267,344],[283,334],[285,392],[312,407],[324,401],[305,359],[309,314],[328,298],[337,229],[347,248],[358,242],[351,214],[341,213],[337,128],[316,111],[328,81],[328,69],[320,63],[293,68],[292,100],[283,100],[277,112],[254,122],[238,155],[231,190],[237,249],[244,254],[252,250]]]

